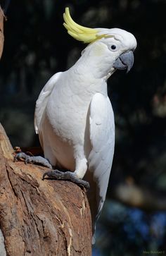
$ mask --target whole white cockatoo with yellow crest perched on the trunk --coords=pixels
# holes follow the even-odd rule
[[[132,68],[136,39],[118,28],[82,27],[72,20],[69,8],[63,17],[68,33],[89,44],[68,71],[53,75],[41,90],[34,125],[44,157],[58,168],[45,175],[89,183],[94,230],[106,198],[115,145],[107,80],[116,69]]]

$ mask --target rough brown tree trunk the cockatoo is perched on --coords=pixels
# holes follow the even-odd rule
[[[90,256],[86,191],[70,181],[42,181],[46,168],[13,162],[12,153],[0,126],[0,240],[4,236],[6,255]]]

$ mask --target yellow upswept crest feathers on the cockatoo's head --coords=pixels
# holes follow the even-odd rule
[[[64,27],[68,30],[68,34],[74,37],[75,39],[82,41],[84,43],[91,43],[100,39],[102,37],[112,37],[111,35],[98,35],[98,30],[96,28],[87,28],[83,27],[74,20],[72,20],[69,12],[69,8],[65,8],[65,13],[63,13],[63,19],[65,23],[63,23]]]

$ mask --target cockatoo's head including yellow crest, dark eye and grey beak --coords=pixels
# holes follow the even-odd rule
[[[119,28],[86,28],[78,25],[72,20],[68,7],[65,8],[63,18],[63,25],[68,34],[89,44],[83,54],[88,51],[97,66],[105,66],[106,73],[110,75],[117,69],[130,71],[134,63],[133,52],[136,49],[134,35]]]

